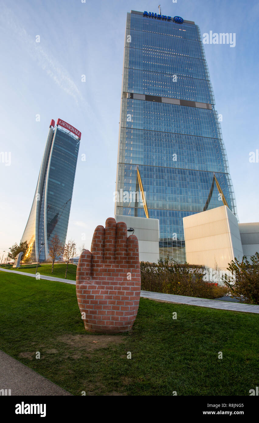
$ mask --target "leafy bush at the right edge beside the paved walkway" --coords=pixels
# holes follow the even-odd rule
[[[241,262],[235,258],[229,263],[228,270],[235,272],[233,283],[224,281],[233,295],[240,302],[259,304],[259,253],[251,256],[251,263],[245,256]]]

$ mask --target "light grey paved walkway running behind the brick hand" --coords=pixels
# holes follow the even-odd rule
[[[2,269],[4,272],[18,273],[19,275],[26,275],[35,277],[32,273],[19,272],[16,270]],[[71,283],[76,285],[75,280],[62,279],[61,277],[41,275],[41,279],[54,280],[57,282]],[[204,299],[196,297],[185,297],[183,295],[161,294],[159,292],[141,291],[140,296],[143,298],[154,299],[160,302],[172,302],[174,304],[189,304],[200,307],[218,308],[220,310],[243,311],[245,313],[259,313],[259,305],[240,304],[237,302],[218,301],[217,299]]]

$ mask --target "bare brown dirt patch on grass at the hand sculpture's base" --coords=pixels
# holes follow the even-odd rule
[[[57,341],[63,342],[73,349],[84,350],[87,352],[95,351],[100,348],[108,348],[113,343],[119,344],[126,341],[126,336],[121,335],[63,335],[57,338]]]

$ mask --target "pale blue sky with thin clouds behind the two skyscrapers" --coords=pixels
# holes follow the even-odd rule
[[[0,152],[11,152],[11,164],[0,162],[0,255],[22,237],[52,118],[82,132],[67,238],[90,249],[95,226],[114,216],[126,13],[158,12],[158,1],[1,3]],[[239,220],[258,222],[259,163],[249,162],[249,153],[259,149],[259,3],[160,3],[163,14],[194,21],[202,34],[236,33],[234,48],[204,50]]]

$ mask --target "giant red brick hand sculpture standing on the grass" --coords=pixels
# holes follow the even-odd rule
[[[105,225],[95,229],[91,252],[79,258],[76,296],[87,331],[126,332],[139,308],[139,243],[124,222],[109,217]]]

